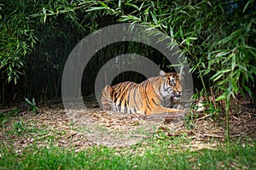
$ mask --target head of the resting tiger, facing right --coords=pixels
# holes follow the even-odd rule
[[[166,73],[160,71],[160,76],[164,77],[163,91],[165,97],[170,97],[173,100],[179,100],[183,94],[183,76],[177,73]]]

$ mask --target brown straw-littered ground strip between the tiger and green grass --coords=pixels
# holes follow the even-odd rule
[[[250,106],[250,101],[237,103],[238,107],[230,111],[230,139],[255,140],[255,109]],[[183,147],[190,150],[207,149],[225,140],[224,116],[213,117],[203,113],[193,122],[166,123],[148,122],[137,115],[108,114],[91,104],[88,111],[68,112],[61,103],[44,103],[38,108],[38,114],[20,111],[18,116],[11,116],[2,124],[0,143],[8,145],[11,142],[18,152],[28,144],[43,146],[49,141],[76,150],[96,144],[120,147],[148,139],[159,130],[167,136],[185,136],[191,142]]]

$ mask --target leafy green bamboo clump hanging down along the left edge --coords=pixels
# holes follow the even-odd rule
[[[24,71],[26,55],[38,39],[25,8],[25,3],[19,1],[2,2],[0,8],[0,71],[8,82],[15,84]]]

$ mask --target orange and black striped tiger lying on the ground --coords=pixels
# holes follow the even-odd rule
[[[160,71],[160,76],[148,78],[139,84],[120,82],[114,86],[106,86],[102,90],[102,108],[147,116],[182,112],[170,108],[173,101],[181,98],[182,81],[183,77],[177,73]]]

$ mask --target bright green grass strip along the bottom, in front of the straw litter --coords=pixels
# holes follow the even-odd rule
[[[75,152],[33,144],[17,153],[12,147],[0,149],[0,169],[253,169],[255,143],[229,144],[215,150],[173,149],[172,140],[146,142],[123,149],[95,146]]]

